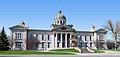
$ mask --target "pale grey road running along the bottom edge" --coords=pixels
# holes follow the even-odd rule
[[[81,55],[0,55],[0,57],[120,57],[120,54],[81,54]]]

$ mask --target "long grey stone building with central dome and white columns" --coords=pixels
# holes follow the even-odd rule
[[[89,31],[76,31],[72,24],[67,24],[67,18],[62,14],[61,10],[58,11],[49,30],[26,28],[23,21],[9,29],[13,40],[11,47],[13,50],[70,47],[107,49],[106,30],[102,28],[95,30],[95,26],[91,25]],[[31,38],[35,38],[40,43],[34,44],[35,40]],[[31,45],[28,43],[30,41],[34,46],[29,46]]]

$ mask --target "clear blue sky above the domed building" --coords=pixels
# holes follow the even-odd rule
[[[0,29],[10,35],[9,27],[22,20],[35,29],[50,29],[58,10],[67,17],[67,24],[76,30],[103,27],[108,19],[120,20],[120,0],[0,0]]]

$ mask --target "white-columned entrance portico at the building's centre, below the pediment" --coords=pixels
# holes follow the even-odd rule
[[[71,45],[70,42],[71,34],[70,33],[54,33],[54,46],[55,48],[69,48]]]

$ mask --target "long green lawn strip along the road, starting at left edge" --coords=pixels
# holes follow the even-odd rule
[[[26,50],[26,51],[0,51],[0,54],[10,54],[10,55],[19,55],[19,54],[55,54],[55,55],[74,55],[73,53],[61,53],[61,52],[38,52],[37,50]]]

